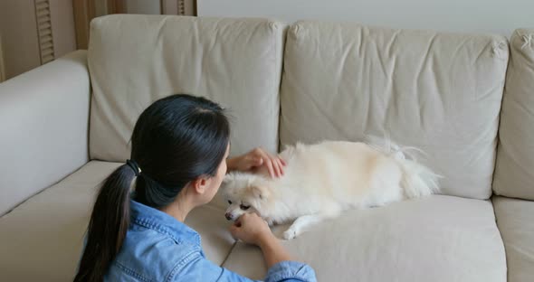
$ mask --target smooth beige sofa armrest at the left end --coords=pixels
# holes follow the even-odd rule
[[[87,52],[0,83],[0,216],[88,162]]]

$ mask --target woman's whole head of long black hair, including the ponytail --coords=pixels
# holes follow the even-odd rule
[[[187,183],[216,174],[229,136],[224,109],[208,99],[172,95],[145,109],[131,137],[131,161],[120,165],[100,188],[74,281],[102,281],[119,253],[129,228],[134,179],[133,200],[163,208]]]

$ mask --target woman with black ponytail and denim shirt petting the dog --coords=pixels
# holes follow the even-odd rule
[[[74,281],[250,281],[207,260],[200,236],[183,223],[213,199],[227,169],[282,174],[283,161],[262,150],[226,160],[229,136],[224,110],[207,99],[173,95],[148,107],[133,130],[131,160],[100,188]],[[257,215],[230,231],[262,249],[266,281],[315,281]]]

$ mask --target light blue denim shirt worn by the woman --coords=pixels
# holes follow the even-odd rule
[[[200,235],[163,211],[130,201],[131,221],[105,281],[253,281],[205,258]],[[310,266],[282,261],[267,282],[316,281]]]

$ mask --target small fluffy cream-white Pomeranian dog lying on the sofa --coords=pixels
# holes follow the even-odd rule
[[[341,211],[382,206],[438,192],[439,175],[389,140],[326,141],[290,146],[281,152],[284,174],[227,174],[222,185],[230,206],[226,219],[256,212],[269,225],[293,221],[285,240]]]

